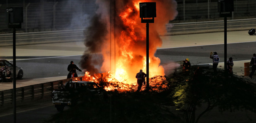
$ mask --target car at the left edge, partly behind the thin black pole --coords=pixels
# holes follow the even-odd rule
[[[0,59],[0,68],[7,66],[8,70],[13,73],[13,64],[8,62],[7,60],[1,60]],[[16,78],[22,78],[23,77],[23,70],[21,67],[16,66]]]

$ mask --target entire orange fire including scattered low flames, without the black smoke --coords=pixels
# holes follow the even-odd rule
[[[106,82],[122,83],[123,86],[120,87],[119,85],[118,88],[129,90],[137,84],[137,79],[135,76],[140,69],[146,73],[146,24],[141,23],[141,19],[139,18],[139,3],[154,1],[115,0],[115,4],[112,5],[112,7],[115,6],[115,8],[112,9],[112,12],[115,12],[116,16],[112,16],[111,19],[114,18],[116,26],[113,26],[114,24],[109,22],[110,18],[108,17],[111,15],[105,15],[106,11],[109,11],[109,8],[106,8],[109,2],[104,2],[104,0],[97,0],[97,2],[100,6],[99,8],[101,8],[97,11],[98,13],[101,13],[99,14],[101,17],[99,18],[104,20],[104,22],[107,22],[106,26],[112,27],[106,28],[106,30],[111,29],[108,32],[109,34],[106,33],[106,35],[104,35],[105,37],[97,38],[96,40],[104,40],[102,41],[103,44],[101,45],[101,53],[104,60],[101,66],[101,71],[108,72],[108,75],[104,78]],[[167,24],[169,20],[174,19],[174,17],[177,15],[175,6],[177,6],[175,0],[162,0],[156,2],[157,17],[155,18],[155,23],[150,23],[149,26],[149,78],[165,75],[164,69],[160,65],[160,59],[155,57],[154,54],[157,48],[161,47],[162,45],[159,35],[165,34],[165,24]],[[99,37],[98,35],[99,34],[95,35],[95,37]],[[110,35],[112,36],[111,39]],[[113,43],[114,41],[116,42],[115,45]],[[114,75],[112,75],[112,73],[114,73]],[[89,76],[89,73],[85,73],[85,76],[87,76],[87,80],[99,82],[99,78],[93,78],[92,76]],[[114,89],[114,87],[108,87],[106,89]]]

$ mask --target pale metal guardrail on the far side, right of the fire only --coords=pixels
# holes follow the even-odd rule
[[[250,30],[256,28],[256,19],[227,20],[227,31]],[[187,22],[166,25],[166,35],[184,35],[209,32],[224,32],[224,20]]]

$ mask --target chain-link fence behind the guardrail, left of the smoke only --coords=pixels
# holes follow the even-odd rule
[[[9,32],[6,7],[23,7],[23,32],[83,29],[97,9],[96,0],[6,0],[0,2],[0,33]],[[5,30],[2,30],[5,29]]]

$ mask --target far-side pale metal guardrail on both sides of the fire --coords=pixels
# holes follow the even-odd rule
[[[250,30],[254,27],[256,28],[256,19],[227,20],[227,31]],[[224,20],[167,24],[166,29],[165,35],[224,32]],[[83,33],[83,30],[17,33],[16,45],[83,41]],[[0,34],[0,44],[12,46],[13,34]]]

